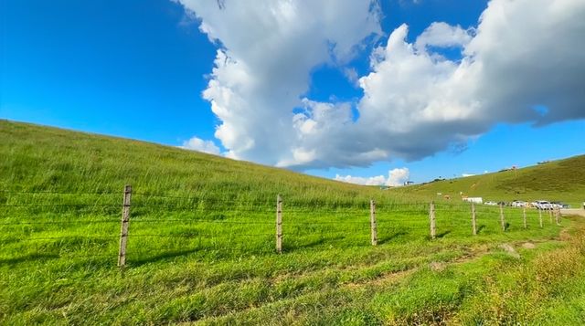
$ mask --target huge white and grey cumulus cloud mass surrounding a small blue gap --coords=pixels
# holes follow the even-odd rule
[[[367,166],[464,146],[499,122],[585,118],[583,0],[491,0],[477,26],[435,22],[413,42],[399,26],[357,79],[357,103],[304,94],[320,65],[356,79],[346,62],[381,34],[377,2],[179,1],[219,47],[203,97],[229,157]],[[443,47],[460,58],[444,58]]]

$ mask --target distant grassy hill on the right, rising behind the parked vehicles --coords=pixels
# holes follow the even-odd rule
[[[585,201],[585,155],[494,174],[416,184],[396,189],[399,194],[435,197],[460,194],[484,201],[563,201],[580,207]]]

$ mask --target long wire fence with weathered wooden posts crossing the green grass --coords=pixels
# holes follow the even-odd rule
[[[0,190],[0,193],[4,194],[16,194],[16,195],[76,195],[79,197],[80,195],[116,195],[115,193],[106,193],[106,192],[96,192],[96,193],[69,193],[69,192],[52,192],[52,191],[40,191],[40,192],[30,192],[30,191],[5,191]],[[117,195],[120,195],[119,193]],[[148,193],[136,193],[133,192],[132,187],[130,185],[126,185],[124,187],[122,197],[122,204],[7,204],[8,198],[5,198],[5,204],[0,205],[0,207],[75,207],[75,208],[83,208],[83,207],[111,207],[111,208],[122,208],[122,218],[113,220],[97,220],[97,219],[89,219],[89,220],[75,220],[75,221],[58,221],[58,220],[51,220],[51,221],[17,221],[12,223],[0,223],[0,226],[35,226],[35,225],[91,225],[91,224],[109,224],[114,222],[120,222],[120,235],[119,236],[91,236],[91,235],[83,235],[83,236],[59,236],[59,237],[28,237],[28,238],[18,238],[17,241],[37,241],[37,240],[60,240],[60,239],[94,239],[94,238],[119,238],[120,245],[118,249],[118,265],[123,267],[126,265],[126,258],[127,258],[127,244],[128,240],[131,237],[177,237],[177,238],[235,238],[235,237],[275,237],[275,248],[277,253],[282,253],[283,251],[283,239],[286,237],[287,239],[293,239],[293,237],[310,237],[313,235],[318,235],[323,237],[324,235],[342,235],[346,234],[347,231],[359,231],[362,230],[361,227],[352,228],[352,229],[344,229],[342,231],[331,232],[331,230],[327,229],[327,232],[315,232],[313,228],[307,229],[305,226],[363,226],[365,229],[367,226],[369,228],[369,235],[364,233],[364,237],[369,236],[371,246],[378,246],[378,227],[383,226],[382,229],[384,230],[398,230],[398,231],[408,231],[408,230],[420,230],[422,227],[429,227],[429,237],[431,239],[435,239],[437,237],[442,237],[437,232],[444,229],[444,228],[469,228],[469,234],[476,236],[480,231],[481,227],[478,229],[478,217],[480,220],[485,220],[490,216],[497,216],[495,213],[496,207],[476,207],[473,203],[470,204],[445,204],[440,203],[436,204],[434,202],[429,203],[381,203],[378,205],[373,199],[369,201],[369,212],[367,211],[367,202],[365,203],[356,203],[351,205],[350,202],[334,202],[334,203],[326,203],[324,201],[307,201],[307,202],[300,202],[300,201],[291,201],[287,203],[286,207],[292,206],[291,209],[288,209],[283,206],[283,199],[281,195],[278,195],[276,201],[276,209],[270,209],[270,203],[266,201],[258,201],[258,200],[251,200],[251,201],[241,201],[238,199],[229,200],[223,198],[209,198],[209,197],[202,197],[202,196],[176,196],[176,195],[155,195],[155,194],[148,194]],[[137,195],[136,203],[133,203],[133,196]],[[158,202],[158,201],[150,201],[144,200],[141,196],[147,197],[155,197],[155,198],[173,198],[173,199],[182,199],[190,201],[192,205],[168,205],[165,202]],[[13,198],[10,198],[12,200]],[[37,198],[32,198],[33,200]],[[44,198],[41,198],[44,199]],[[33,201],[29,200],[29,201]],[[216,204],[231,204],[226,206],[220,207],[213,207]],[[325,205],[321,205],[325,204]],[[328,205],[327,205],[328,204]],[[332,205],[333,204],[333,205]],[[258,208],[250,208],[253,205],[261,205]],[[295,208],[295,205],[297,206]],[[317,206],[315,209],[305,209],[305,208],[298,208],[298,206],[303,207],[306,206]],[[241,207],[244,206],[244,207]],[[151,212],[145,212],[143,208],[158,208],[159,210],[163,210],[165,213],[175,213],[181,211],[192,211],[197,213],[206,212],[206,211],[218,211],[218,208],[221,209],[221,213],[238,213],[238,212],[250,212],[250,213],[258,213],[258,214],[273,214],[276,212],[276,221],[275,222],[264,222],[264,221],[233,221],[233,220],[223,220],[223,219],[202,219],[202,218],[153,218],[152,216],[148,218],[143,218],[144,215],[152,214]],[[175,208],[175,209],[174,209]],[[179,209],[176,209],[179,208]],[[460,209],[461,208],[461,209]],[[471,208],[471,210],[470,210]],[[542,223],[542,211],[538,211],[538,222],[540,228],[543,228]],[[367,216],[369,213],[369,221],[367,220]],[[451,218],[446,219],[443,215],[444,214],[452,214],[457,213],[461,214],[462,216],[468,215],[471,217],[471,221],[466,219],[467,222],[461,223],[463,218],[461,216],[450,216]],[[553,216],[556,222],[556,225],[560,225],[560,211],[558,209],[554,211],[550,211],[549,219],[550,224],[552,225]],[[103,212],[91,212],[91,214],[103,214]],[[332,216],[351,216],[354,218],[355,216],[361,216],[363,218],[362,221],[351,221],[351,220],[315,220],[315,221],[296,221],[295,218],[290,219],[287,217],[295,217],[295,216],[311,216],[311,215],[332,215]],[[384,218],[385,216],[395,216],[401,214],[412,214],[413,218]],[[135,215],[135,216],[133,216]],[[223,215],[223,214],[222,214]],[[428,215],[428,219],[425,219],[425,215]],[[512,216],[522,216],[523,218],[523,228],[528,228],[528,221],[527,221],[527,210],[523,208],[522,211],[517,211],[515,209],[506,209],[503,205],[499,206],[499,219],[500,224],[502,227],[502,231],[508,231],[510,224],[506,222],[505,216],[512,217]],[[235,218],[241,216],[229,216],[229,218]],[[380,218],[381,217],[381,218]],[[468,218],[470,218],[468,217]],[[130,224],[131,222],[134,223],[145,223],[145,224],[167,224],[167,223],[181,223],[181,224],[217,224],[217,225],[233,225],[233,226],[246,226],[246,225],[256,225],[256,226],[276,226],[275,233],[268,234],[268,233],[256,233],[256,234],[247,234],[247,233],[221,233],[221,234],[201,234],[201,233],[176,233],[176,234],[149,234],[149,233],[132,233],[130,232]],[[405,225],[410,224],[410,226]],[[397,226],[398,224],[398,226]],[[285,228],[285,226],[298,226],[298,229],[294,228]],[[484,227],[484,226],[482,226]],[[286,235],[283,234],[283,228],[286,230]],[[306,229],[308,234],[299,234],[297,231]],[[27,231],[29,234],[35,233],[33,231]],[[42,232],[42,231],[40,231]],[[353,235],[356,236],[355,234]],[[336,238],[336,237],[335,237]],[[343,237],[346,238],[346,237]],[[14,239],[13,239],[14,240]],[[132,253],[131,253],[132,255]],[[1,261],[1,260],[0,260]]]

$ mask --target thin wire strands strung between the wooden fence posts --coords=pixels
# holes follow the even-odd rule
[[[71,195],[72,198],[66,195]],[[120,203],[103,203],[112,202],[111,195],[120,195]],[[133,212],[129,220],[132,227],[130,227],[130,233],[122,237],[144,238],[144,240],[137,240],[137,243],[143,247],[148,247],[149,243],[154,244],[154,241],[147,240],[150,238],[168,239],[161,240],[160,243],[163,244],[175,242],[172,239],[176,239],[177,244],[186,243],[187,245],[193,244],[193,240],[197,239],[201,244],[201,239],[222,239],[222,241],[227,239],[231,243],[239,241],[240,238],[247,238],[246,241],[256,241],[255,243],[264,246],[269,237],[276,236],[275,233],[268,233],[271,231],[269,229],[274,227],[276,223],[272,216],[276,210],[276,201],[273,200],[168,195],[146,192],[133,192],[132,195],[134,195],[133,203],[127,206]],[[83,198],[78,198],[79,196]],[[97,196],[97,199],[92,203],[88,203],[89,198],[86,196],[93,196],[94,198]],[[104,197],[108,199],[105,200]],[[104,200],[101,201],[101,199]],[[22,247],[26,250],[37,250],[39,255],[53,255],[53,252],[47,250],[54,247],[67,247],[68,249],[76,250],[76,247],[73,247],[75,242],[66,240],[87,240],[84,242],[84,247],[94,247],[95,244],[109,244],[105,246],[110,247],[103,248],[98,246],[95,248],[96,253],[85,254],[85,256],[84,254],[76,256],[76,253],[71,254],[68,251],[65,253],[66,255],[58,253],[58,257],[113,258],[118,256],[118,253],[106,255],[102,254],[101,251],[112,251],[112,247],[116,246],[118,239],[121,238],[119,228],[110,228],[111,226],[108,225],[113,226],[121,223],[121,219],[114,219],[112,215],[114,214],[114,209],[121,212],[122,207],[124,207],[122,205],[122,193],[112,191],[0,190],[0,208],[4,208],[0,209],[0,243],[6,246],[20,246],[19,243],[50,241],[47,243],[49,245],[41,243],[42,246],[49,246],[48,248],[35,248],[28,245],[22,245]],[[10,208],[23,208],[23,210],[11,211]],[[64,209],[65,212],[54,212],[48,208]],[[465,237],[471,236],[471,204],[441,203],[436,204],[434,209],[437,227],[439,228],[438,234],[441,237],[451,233]],[[28,219],[23,220],[22,216],[16,216],[16,213],[12,215],[10,212],[27,212]],[[543,213],[543,220],[548,222],[548,212]],[[507,223],[503,234],[504,237],[510,237],[508,232],[525,229],[522,226],[524,214],[521,208],[504,208],[505,223]],[[535,223],[537,224],[535,222],[537,211],[527,210],[526,214],[530,225],[529,229],[540,229],[539,226],[535,226]],[[376,215],[378,238],[380,239],[429,237],[430,203],[380,201],[376,206]],[[499,206],[475,205],[475,215],[477,224],[480,227],[480,234],[502,232]],[[97,218],[98,216],[109,216],[109,218],[99,219]],[[293,247],[303,247],[303,241],[314,241],[307,239],[314,239],[315,237],[332,241],[358,238],[360,239],[360,244],[368,245],[367,241],[362,243],[361,240],[370,236],[368,231],[371,227],[369,220],[370,207],[367,201],[292,200],[284,202],[284,205],[282,205],[282,216],[284,216],[282,224],[284,233],[281,237],[290,239],[294,244]],[[30,218],[33,218],[33,220],[30,220]],[[59,233],[64,234],[49,234],[45,237],[44,234],[55,231],[53,228],[48,227],[52,225],[59,226]],[[98,231],[96,232],[98,234],[78,234],[82,230],[81,227],[93,225],[103,225],[101,228],[95,227],[95,231]],[[207,227],[207,225],[216,225],[217,227]],[[21,226],[20,230],[26,236],[10,237],[18,230],[13,226]],[[3,234],[1,232],[3,228],[9,230],[10,233],[4,232]],[[115,233],[102,235],[109,232],[108,230],[115,230]],[[250,233],[250,231],[254,233]],[[6,235],[8,236],[6,237]],[[258,240],[254,240],[254,238]],[[246,241],[241,240],[240,242],[245,243]],[[156,242],[156,244],[159,243]],[[209,242],[204,241],[201,246],[205,247],[208,244]],[[166,250],[156,248],[157,245],[153,247],[154,249],[146,249],[144,252],[152,255],[157,250],[160,252],[165,252]],[[201,247],[197,247],[197,249],[201,249]],[[196,249],[178,247],[168,250],[183,252]],[[143,251],[134,250],[132,255],[139,257],[142,255],[141,252]],[[29,254],[28,251],[27,254]],[[34,256],[34,254],[32,255]],[[10,259],[12,258],[0,258],[0,263],[5,260],[10,261]]]

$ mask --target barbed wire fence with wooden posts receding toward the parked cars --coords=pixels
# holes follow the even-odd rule
[[[153,254],[195,250],[186,247],[148,247],[154,244],[152,239],[155,238],[171,241],[195,239],[198,241],[198,248],[205,248],[207,245],[202,243],[202,239],[225,242],[225,239],[242,237],[261,239],[261,246],[269,246],[272,238],[274,252],[281,254],[284,248],[286,251],[293,250],[293,247],[285,247],[287,242],[294,242],[295,239],[303,237],[318,237],[319,240],[315,240],[315,243],[321,244],[326,236],[333,239],[363,236],[363,242],[357,245],[378,246],[383,242],[378,232],[393,232],[390,240],[396,235],[409,234],[434,240],[444,237],[453,230],[477,237],[482,234],[485,222],[488,220],[494,222],[495,218],[499,222],[501,232],[511,230],[513,218],[521,218],[521,222],[514,220],[515,226],[516,222],[519,225],[517,229],[527,229],[534,225],[542,229],[547,214],[550,225],[560,225],[561,219],[559,209],[544,212],[537,210],[535,221],[533,211],[531,212],[533,218],[528,219],[526,207],[510,210],[500,205],[497,207],[499,209],[495,209],[473,203],[384,201],[377,203],[372,199],[369,203],[360,202],[352,205],[326,205],[328,204],[326,201],[315,205],[313,202],[302,201],[287,203],[281,195],[271,203],[270,200],[241,201],[195,195],[133,192],[130,185],[123,189],[122,203],[116,203],[116,198],[119,199],[120,195],[115,192],[0,190],[0,227],[8,229],[20,227],[22,231],[20,236],[16,232],[5,231],[0,236],[0,241],[3,245],[27,243],[27,248],[32,248],[29,250],[32,251],[30,258],[55,256],[54,253],[44,252],[58,249],[65,241],[73,241],[78,247],[88,246],[92,249],[87,253],[87,257],[112,258],[115,255],[118,258],[118,266],[124,267],[126,258],[132,257],[134,252]],[[46,196],[50,197],[49,200]],[[66,198],[63,198],[64,196]],[[71,200],[87,199],[91,202],[70,203]],[[18,212],[23,210],[25,212]],[[33,216],[32,220],[23,220],[22,216],[25,213],[27,216]],[[250,216],[261,218],[250,219]],[[270,216],[274,218],[272,221]],[[307,219],[312,216],[317,218]],[[168,233],[156,232],[161,229],[157,226],[161,225],[172,225],[174,229]],[[74,231],[76,226],[85,228],[81,228],[77,233],[69,233]],[[222,226],[224,229],[208,226]],[[209,233],[214,230],[217,232]],[[48,231],[51,232],[51,236],[42,236]],[[36,234],[41,236],[37,237]],[[144,250],[128,250],[131,238],[144,239],[145,242],[142,243],[146,246]],[[99,251],[112,249],[113,242],[118,243],[117,255]],[[39,245],[37,247],[31,245],[35,243]],[[75,248],[68,247],[67,250],[59,250],[57,256],[72,258],[77,254]],[[2,261],[0,258],[0,263]]]

